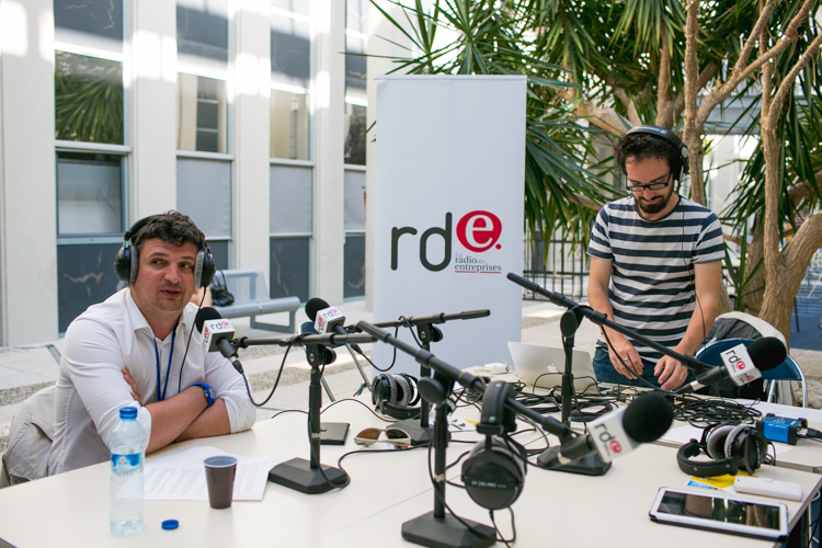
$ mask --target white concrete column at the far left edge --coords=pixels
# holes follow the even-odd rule
[[[0,345],[57,339],[52,0],[0,2]]]

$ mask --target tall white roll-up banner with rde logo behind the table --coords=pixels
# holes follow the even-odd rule
[[[377,77],[374,320],[491,310],[438,326],[431,351],[459,368],[511,364],[522,333],[525,99],[524,76]]]

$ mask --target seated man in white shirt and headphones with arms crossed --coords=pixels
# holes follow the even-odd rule
[[[169,212],[137,221],[125,239],[115,270],[128,287],[66,331],[49,476],[107,460],[126,406],[138,408],[146,453],[248,430],[256,416],[242,376],[205,352],[194,327],[190,299],[214,273],[203,232]]]

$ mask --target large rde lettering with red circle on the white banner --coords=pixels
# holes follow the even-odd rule
[[[450,264],[452,219],[452,213],[446,213],[445,228],[431,227],[420,237],[420,263],[432,272],[439,272]],[[496,243],[502,235],[502,221],[491,212],[476,210],[467,213],[459,219],[459,221],[457,221],[456,231],[459,243],[475,253],[482,253],[492,247],[495,247],[495,249],[502,247]],[[402,235],[416,235],[416,229],[414,227],[391,228],[392,271],[396,271],[399,267],[399,241]],[[432,236],[439,236],[445,242],[443,260],[436,264],[430,262],[427,256],[429,239]]]

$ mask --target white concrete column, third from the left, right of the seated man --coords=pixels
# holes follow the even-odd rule
[[[232,4],[235,265],[269,277],[271,23],[269,0]]]

